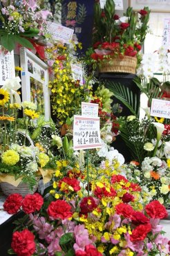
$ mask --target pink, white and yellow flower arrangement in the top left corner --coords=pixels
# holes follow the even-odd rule
[[[12,51],[16,43],[33,48],[31,38],[45,38],[46,21],[51,13],[41,10],[37,1],[4,0],[0,4],[0,42],[4,48]]]

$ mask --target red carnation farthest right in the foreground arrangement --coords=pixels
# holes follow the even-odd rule
[[[149,217],[153,219],[164,219],[168,215],[164,205],[157,200],[153,200],[151,203],[147,204],[144,210],[146,210]]]

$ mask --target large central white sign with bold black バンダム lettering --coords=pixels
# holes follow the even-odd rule
[[[74,116],[73,149],[94,149],[97,147],[102,147],[100,118]]]

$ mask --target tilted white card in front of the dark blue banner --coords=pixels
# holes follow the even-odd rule
[[[54,22],[48,22],[48,33],[50,33],[54,39],[59,40],[63,44],[70,44],[74,30]]]

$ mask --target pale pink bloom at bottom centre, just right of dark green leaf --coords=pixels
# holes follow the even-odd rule
[[[75,251],[84,250],[85,246],[91,244],[91,240],[88,238],[88,230],[84,228],[84,225],[78,225],[74,228],[75,244],[73,248]]]

